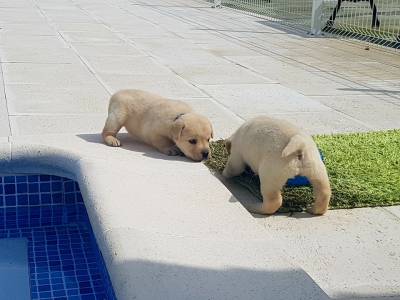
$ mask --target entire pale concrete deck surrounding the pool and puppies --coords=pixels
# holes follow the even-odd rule
[[[189,102],[217,137],[262,113],[400,128],[398,53],[205,1],[0,0],[0,60],[0,171],[79,182],[118,299],[400,299],[399,207],[256,217],[203,164],[99,136],[120,88]]]

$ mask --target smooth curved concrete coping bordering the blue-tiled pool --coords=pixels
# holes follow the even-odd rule
[[[118,299],[329,299],[203,164],[122,141],[12,137],[1,161],[78,181]]]

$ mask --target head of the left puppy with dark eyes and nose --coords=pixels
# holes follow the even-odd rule
[[[172,125],[172,136],[175,144],[195,161],[210,157],[210,139],[213,129],[210,121],[201,115],[187,113],[177,118]]]

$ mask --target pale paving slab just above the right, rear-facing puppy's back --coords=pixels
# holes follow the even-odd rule
[[[218,102],[243,118],[285,112],[327,112],[331,109],[279,84],[202,85]]]

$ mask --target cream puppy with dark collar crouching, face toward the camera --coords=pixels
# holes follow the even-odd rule
[[[210,154],[210,121],[181,101],[140,90],[119,91],[110,99],[102,133],[104,142],[119,147],[121,142],[116,135],[123,126],[135,139],[166,155],[183,152],[186,157],[201,161]]]

